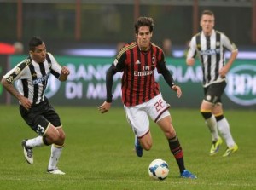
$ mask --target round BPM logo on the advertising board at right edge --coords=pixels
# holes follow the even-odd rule
[[[225,94],[242,106],[256,104],[256,66],[241,65],[230,69]]]

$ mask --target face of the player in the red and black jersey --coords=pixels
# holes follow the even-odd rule
[[[148,26],[141,26],[136,34],[137,44],[140,49],[147,51],[151,42],[152,32],[149,31]]]

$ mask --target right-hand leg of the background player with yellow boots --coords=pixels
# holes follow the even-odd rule
[[[221,102],[217,103],[212,110],[212,113],[214,114],[218,130],[223,136],[224,140],[227,144],[226,152],[224,153],[224,157],[230,156],[231,153],[236,153],[238,150],[238,146],[236,145],[236,142],[234,141],[231,132],[230,132],[230,124],[228,120],[224,117],[223,107]]]

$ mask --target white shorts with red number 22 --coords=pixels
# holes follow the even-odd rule
[[[170,115],[169,107],[170,105],[166,103],[161,94],[135,107],[124,106],[127,121],[137,137],[142,137],[148,133],[148,116],[156,123],[161,118]]]

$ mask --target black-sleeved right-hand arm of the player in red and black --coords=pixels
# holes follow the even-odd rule
[[[180,98],[182,95],[182,90],[179,86],[177,86],[174,83],[174,80],[172,78],[172,74],[171,72],[169,72],[169,70],[166,67],[166,62],[165,61],[160,61],[160,63],[158,64],[158,71],[163,75],[166,83],[170,86],[170,88],[173,91],[177,92],[177,97]]]

